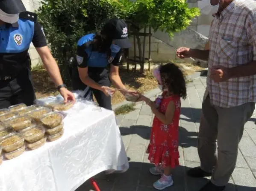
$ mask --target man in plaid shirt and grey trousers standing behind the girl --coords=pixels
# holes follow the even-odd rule
[[[244,124],[256,103],[256,1],[201,0],[198,6],[215,17],[209,50],[177,50],[179,58],[195,57],[209,64],[198,135],[201,164],[188,175],[212,176],[200,191],[223,191],[235,168]]]

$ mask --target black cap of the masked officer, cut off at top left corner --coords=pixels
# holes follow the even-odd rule
[[[18,14],[26,11],[21,0],[0,0],[0,9],[7,14]]]

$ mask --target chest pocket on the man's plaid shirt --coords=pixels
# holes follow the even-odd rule
[[[233,60],[235,57],[236,42],[220,38],[218,56],[224,60]]]

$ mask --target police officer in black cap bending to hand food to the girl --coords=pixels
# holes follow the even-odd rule
[[[127,25],[112,18],[96,34],[87,34],[77,43],[77,66],[73,67],[72,82],[75,90],[84,90],[85,98],[96,98],[100,107],[111,110],[111,97],[115,89],[109,88],[109,78],[123,94],[128,91],[119,76],[122,48],[129,48]],[[107,66],[110,64],[108,76]]]

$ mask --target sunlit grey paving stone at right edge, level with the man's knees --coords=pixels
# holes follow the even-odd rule
[[[256,145],[250,137],[242,137],[239,148],[242,154],[246,157],[256,157]]]

